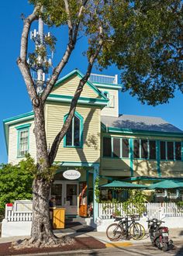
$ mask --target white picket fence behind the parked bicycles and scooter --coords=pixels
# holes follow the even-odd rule
[[[144,205],[147,208],[147,217],[149,219],[157,218],[161,220],[164,216],[183,216],[183,211],[178,209],[175,202],[147,202]],[[110,219],[116,210],[119,211],[120,216],[126,216],[126,213],[123,211],[122,203],[99,203],[98,216],[101,219]]]

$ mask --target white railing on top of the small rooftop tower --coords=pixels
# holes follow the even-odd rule
[[[105,74],[90,74],[88,79],[93,83],[102,83],[102,84],[118,84],[118,75],[105,75]]]

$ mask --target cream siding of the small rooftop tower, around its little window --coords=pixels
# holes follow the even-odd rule
[[[99,88],[102,92],[109,92],[109,95],[112,95],[114,97],[114,107],[105,106],[105,108],[102,109],[101,115],[102,116],[119,116],[119,93],[116,89],[108,89],[108,88]]]

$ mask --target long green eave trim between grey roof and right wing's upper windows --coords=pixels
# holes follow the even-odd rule
[[[147,131],[147,130],[114,128],[114,127],[109,127],[108,132],[134,134],[134,135],[146,135],[146,136],[157,136],[157,137],[181,137],[181,138],[183,138],[183,133],[167,133],[167,132],[157,132],[157,131]]]

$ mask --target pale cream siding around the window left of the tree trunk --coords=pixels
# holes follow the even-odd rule
[[[31,123],[31,126],[29,126],[29,154],[36,159],[36,140],[33,133],[34,123],[33,121],[22,122],[9,127],[9,163],[18,164],[19,161],[25,158],[17,157],[18,130],[16,130],[16,126],[24,125],[26,123]]]

